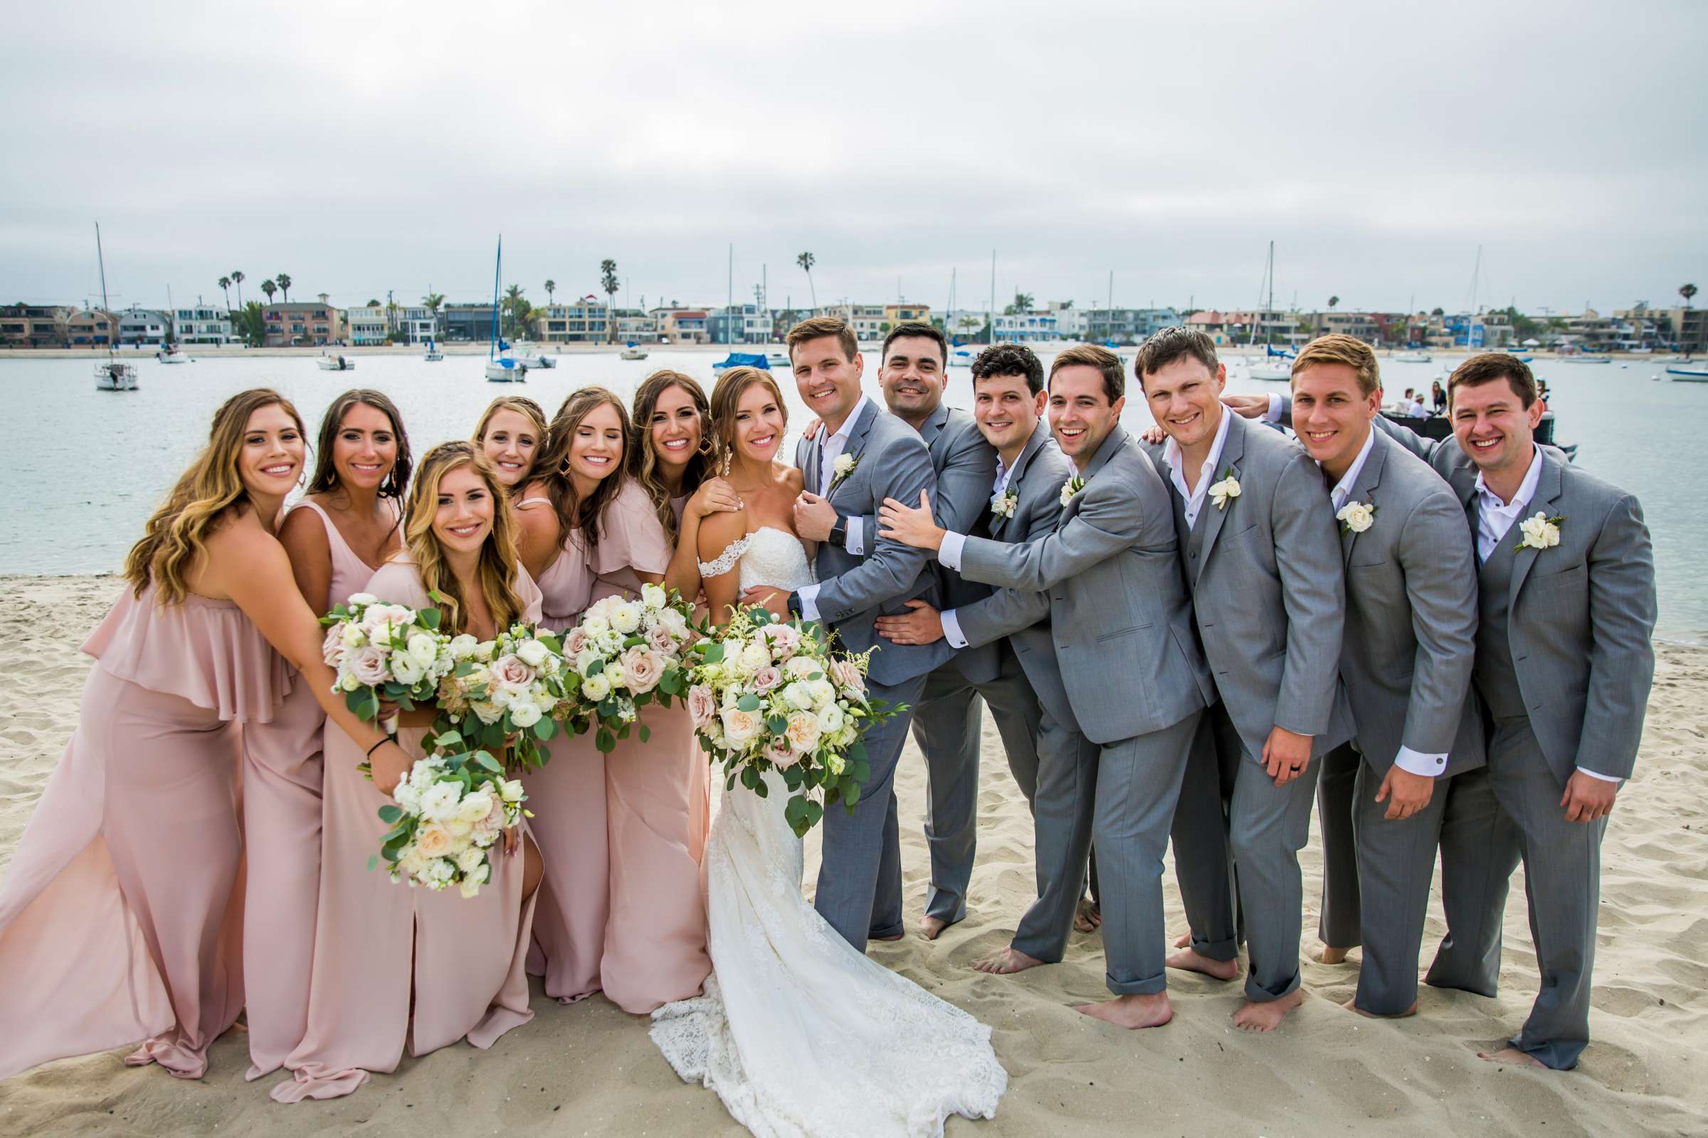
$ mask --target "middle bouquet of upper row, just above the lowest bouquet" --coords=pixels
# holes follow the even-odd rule
[[[557,636],[511,624],[497,640],[453,636],[447,650],[453,667],[439,684],[436,730],[458,734],[468,751],[509,751],[523,768],[545,766],[553,711],[581,689]]]

